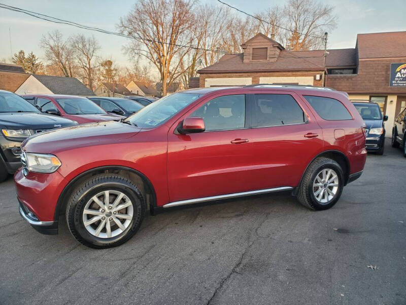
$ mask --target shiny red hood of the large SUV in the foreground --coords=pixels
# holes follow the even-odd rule
[[[36,134],[25,140],[21,147],[30,153],[55,154],[95,143],[120,141],[139,131],[138,127],[116,121],[90,123]]]

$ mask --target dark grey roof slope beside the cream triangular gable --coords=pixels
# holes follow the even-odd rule
[[[38,81],[54,94],[93,96],[94,93],[75,77],[33,74]]]

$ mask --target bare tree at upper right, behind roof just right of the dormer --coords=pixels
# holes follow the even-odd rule
[[[290,31],[284,31],[283,43],[293,51],[320,48],[324,32],[336,26],[333,7],[314,0],[289,0],[284,16]]]

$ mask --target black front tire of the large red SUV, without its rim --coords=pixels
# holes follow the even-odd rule
[[[125,229],[124,232],[114,237],[100,238],[90,234],[86,230],[83,224],[83,210],[86,206],[86,203],[91,199],[91,197],[107,190],[122,192],[131,200],[133,207],[133,217],[130,225]],[[71,217],[73,217],[75,230],[86,243],[90,243],[95,247],[107,248],[121,245],[137,232],[143,218],[142,204],[143,203],[141,202],[141,200],[129,186],[123,184],[122,182],[119,183],[111,181],[107,183],[103,182],[99,185],[94,185],[89,190],[85,191],[79,201],[77,201],[77,203],[71,207],[70,213],[72,213]]]

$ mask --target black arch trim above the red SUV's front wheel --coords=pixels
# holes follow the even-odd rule
[[[76,183],[80,178],[82,178],[83,176],[85,176],[85,175],[87,175],[87,174],[90,174],[90,173],[92,173],[92,172],[95,172],[95,171],[100,171],[100,170],[103,171],[103,170],[109,170],[109,169],[111,169],[111,170],[114,169],[114,170],[130,171],[130,172],[132,172],[132,173],[134,173],[134,174],[139,175],[139,176],[146,182],[146,184],[148,185],[148,187],[149,187],[150,190],[151,190],[151,196],[152,196],[152,198],[151,198],[151,207],[150,207],[150,208],[152,208],[152,209],[155,209],[155,208],[156,208],[156,193],[155,193],[155,188],[154,188],[154,186],[152,185],[150,179],[148,179],[148,177],[147,177],[146,175],[144,175],[142,172],[140,172],[140,171],[138,171],[138,170],[136,170],[136,169],[133,169],[133,168],[131,168],[131,167],[126,167],[126,166],[121,166],[121,165],[107,165],[107,166],[100,166],[100,167],[94,167],[94,168],[88,169],[88,170],[86,170],[86,171],[80,173],[80,174],[77,175],[76,177],[74,177],[71,181],[69,181],[69,183],[63,188],[62,192],[59,194],[58,201],[56,202],[56,207],[55,207],[54,220],[55,220],[55,221],[58,221],[58,219],[59,219],[59,214],[60,214],[60,211],[61,211],[61,207],[63,206],[63,199],[64,199],[64,197],[65,197],[66,194],[70,191],[71,187],[72,187],[73,185],[75,185],[75,183]]]

